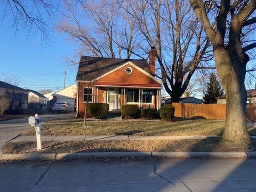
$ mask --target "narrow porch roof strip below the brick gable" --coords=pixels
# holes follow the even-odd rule
[[[151,88],[162,89],[162,85],[158,83],[141,84],[141,83],[95,83],[94,86],[101,87],[128,87],[128,88]]]

